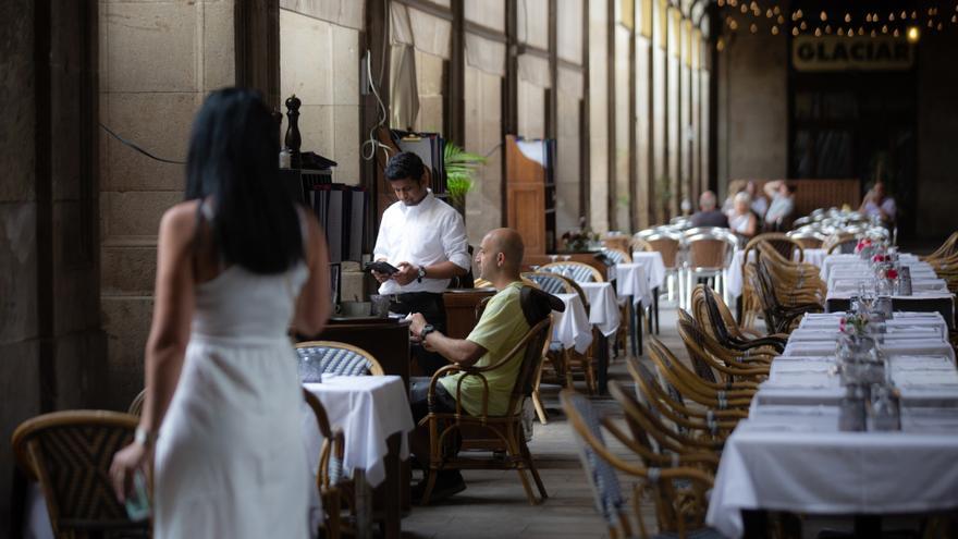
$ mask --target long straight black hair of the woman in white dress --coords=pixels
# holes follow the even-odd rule
[[[282,272],[304,256],[296,206],[280,184],[278,134],[256,91],[224,88],[206,99],[189,139],[186,199],[212,197],[217,248],[255,273]]]

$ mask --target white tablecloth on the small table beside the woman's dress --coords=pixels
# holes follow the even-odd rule
[[[316,395],[326,408],[333,429],[342,429],[346,446],[343,467],[363,469],[367,482],[376,487],[385,479],[383,458],[389,453],[386,438],[396,432],[409,432],[416,425],[409,408],[409,399],[403,379],[397,376],[327,376],[322,383],[304,387]],[[312,411],[304,403],[304,441],[310,469],[316,469],[322,439],[316,427]],[[407,437],[400,458],[409,457]]]

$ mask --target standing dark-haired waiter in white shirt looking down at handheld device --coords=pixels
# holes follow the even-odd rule
[[[442,293],[450,279],[468,272],[469,242],[463,217],[432,195],[425,172],[416,154],[401,152],[389,160],[385,176],[398,201],[382,215],[373,259],[400,271],[372,275],[380,282],[379,293],[391,296],[391,311],[421,313],[434,330],[445,333]],[[414,354],[427,376],[449,364],[422,347],[415,347]]]

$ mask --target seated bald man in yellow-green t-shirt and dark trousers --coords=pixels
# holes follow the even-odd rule
[[[466,339],[451,339],[433,330],[426,319],[413,315],[409,332],[428,350],[435,351],[449,362],[464,367],[484,367],[498,362],[512,350],[529,331],[529,323],[523,315],[519,301],[523,287],[519,268],[523,264],[523,238],[512,229],[496,229],[482,238],[476,264],[479,277],[492,283],[498,291],[486,305],[482,317]],[[513,356],[503,367],[486,372],[489,382],[489,415],[502,416],[506,413],[509,396],[518,376],[523,354]],[[460,375],[452,375],[440,380],[435,387],[435,408],[438,412],[455,412],[456,383]],[[413,417],[419,420],[429,413],[427,393],[429,378],[413,378],[409,401]],[[467,377],[462,384],[463,408],[471,415],[482,413],[482,381],[476,377]],[[417,428],[412,437],[412,450],[416,460],[428,469],[429,432],[426,428]],[[414,500],[421,499],[426,480],[413,489]],[[458,470],[441,471],[435,478],[431,500],[442,500],[465,490],[466,483]]]

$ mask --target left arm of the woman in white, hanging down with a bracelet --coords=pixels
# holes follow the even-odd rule
[[[146,395],[136,441],[116,453],[110,476],[123,500],[132,471],[147,467],[157,431],[180,381],[194,309],[196,204],[174,206],[160,222],[153,320],[146,346]]]

